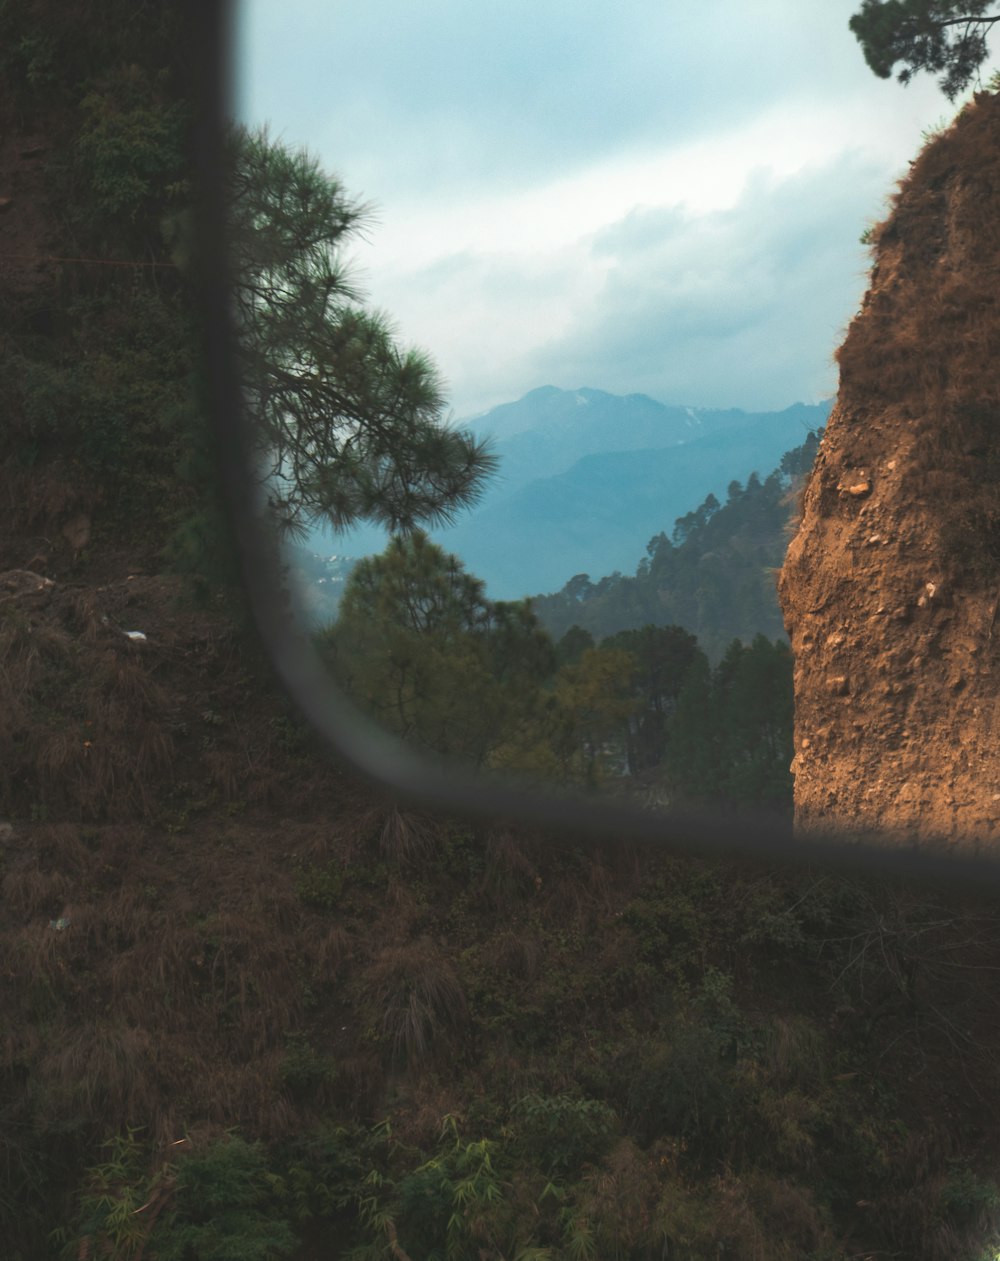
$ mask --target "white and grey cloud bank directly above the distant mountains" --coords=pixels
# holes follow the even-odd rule
[[[636,206],[562,245],[464,248],[380,271],[459,415],[540,385],[697,406],[784,407],[836,390],[866,284],[858,243],[884,174],[860,154],[750,171],[731,206]],[[375,241],[373,250],[377,250]]]

